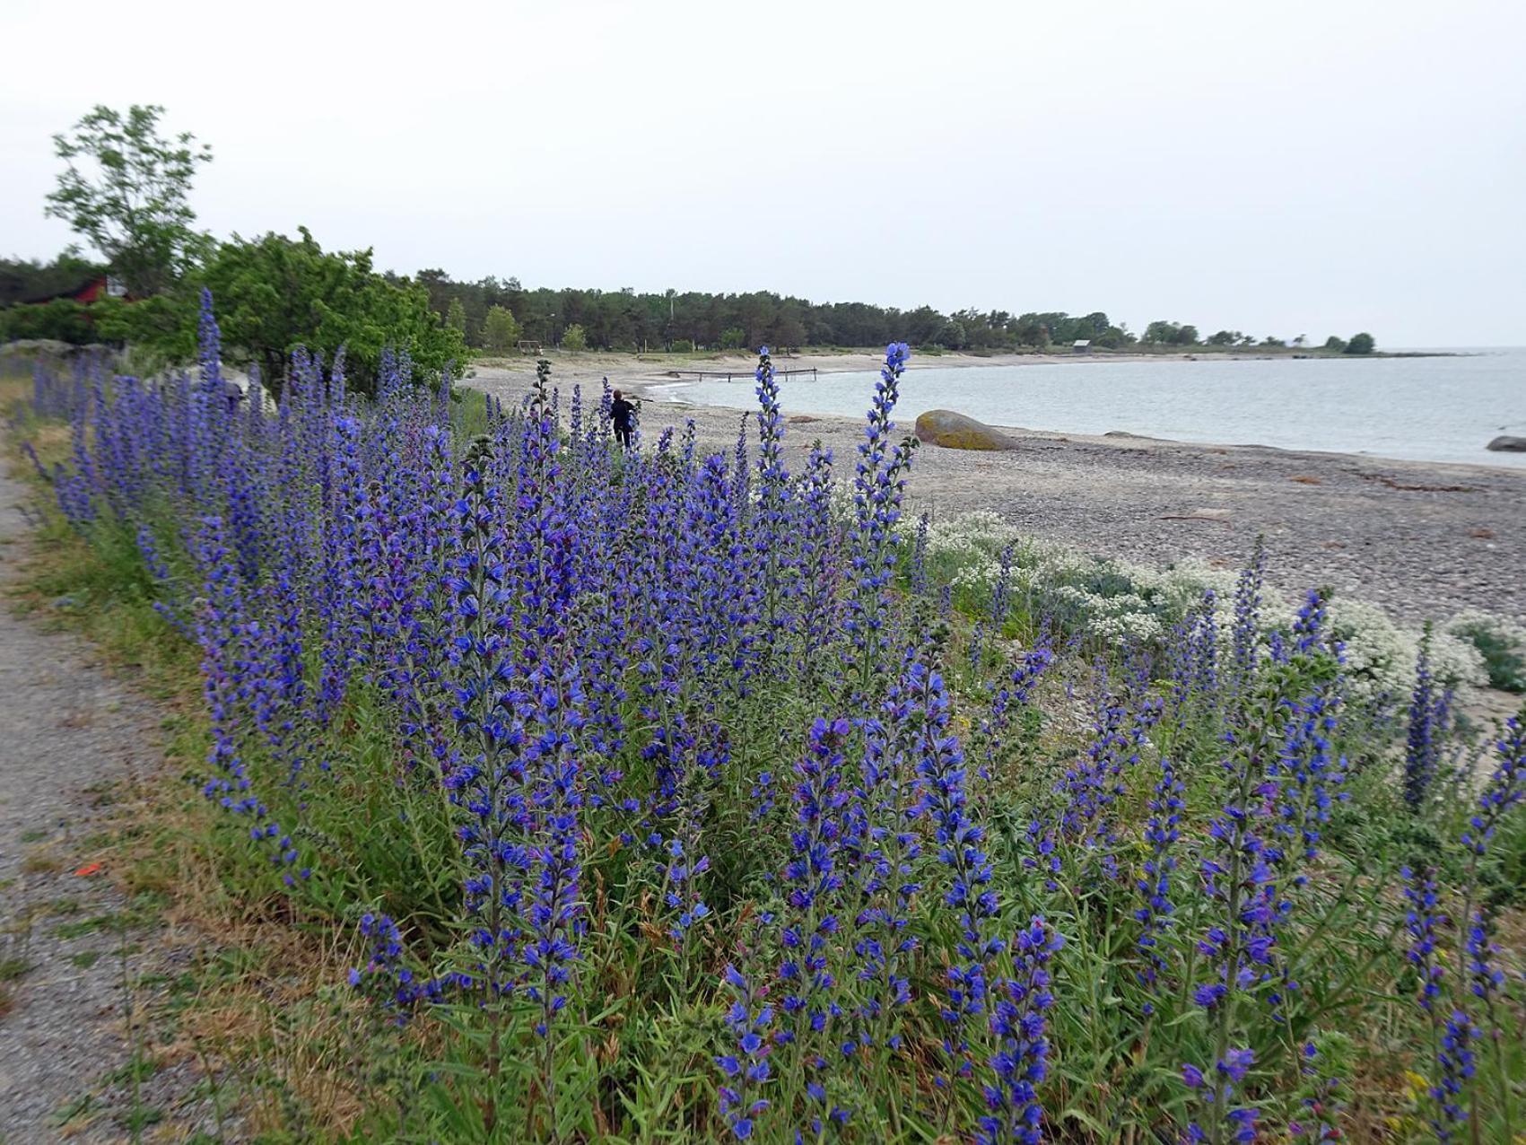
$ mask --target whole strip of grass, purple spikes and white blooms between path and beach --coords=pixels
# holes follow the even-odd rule
[[[160,1029],[232,1136],[1526,1127],[1526,740],[1463,714],[1511,631],[905,521],[902,344],[789,473],[766,351],[705,456],[549,363],[232,400],[198,325],[18,429],[38,591],[179,701],[124,846],[217,936]]]

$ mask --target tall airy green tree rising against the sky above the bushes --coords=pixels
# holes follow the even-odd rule
[[[189,131],[162,137],[163,113],[157,104],[133,104],[125,114],[96,104],[69,133],[53,136],[67,166],[46,214],[89,240],[134,295],[172,287],[211,241],[192,229],[188,197],[212,148]]]

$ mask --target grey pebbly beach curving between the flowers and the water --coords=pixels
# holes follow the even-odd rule
[[[922,363],[1074,362],[1085,369],[1091,360],[1120,357],[945,354]],[[777,365],[873,371],[879,360],[867,353],[823,354],[780,359]],[[693,420],[699,443],[719,450],[736,444],[742,411],[755,408],[752,385],[742,380],[754,365],[755,357],[736,354],[679,366],[736,369],[737,409],[684,403],[682,386],[667,374],[665,362],[559,354],[552,376],[563,400],[577,383],[584,394],[598,392],[604,376],[641,397],[641,434],[649,444],[664,426]],[[533,369],[528,360],[479,363],[467,385],[510,403],[525,394]],[[865,409],[870,398],[865,389]],[[790,415],[787,405],[784,412],[792,467],[819,438],[833,449],[839,472],[852,475],[862,421]],[[911,432],[909,421],[899,429]],[[1019,440],[1018,450],[920,447],[909,508],[940,518],[992,510],[1035,536],[1152,565],[1192,556],[1238,568],[1259,533],[1267,537],[1268,579],[1289,592],[1329,585],[1407,620],[1445,620],[1463,608],[1526,620],[1523,470],[1007,429]]]

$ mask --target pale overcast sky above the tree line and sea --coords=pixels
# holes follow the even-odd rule
[[[0,253],[159,102],[227,235],[455,278],[1526,344],[1526,5],[3,0]]]

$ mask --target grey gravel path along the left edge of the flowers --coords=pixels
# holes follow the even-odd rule
[[[0,592],[15,585],[29,543],[24,496],[0,475]],[[153,711],[98,661],[85,641],[0,600],[5,1145],[124,1140],[133,1108],[127,1015],[145,1000],[140,979],[159,966],[159,928],[153,910],[114,887],[101,832],[162,750]],[[145,1082],[146,1105],[166,1081]]]

